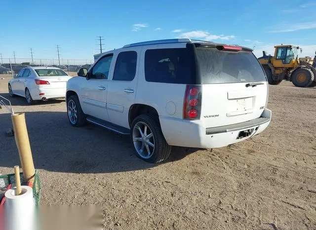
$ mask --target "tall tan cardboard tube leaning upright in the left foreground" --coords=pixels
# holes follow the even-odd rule
[[[25,182],[34,181],[35,168],[24,114],[11,115]]]

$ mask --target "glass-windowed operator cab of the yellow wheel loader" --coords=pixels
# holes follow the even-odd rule
[[[298,58],[298,50],[302,49],[292,45],[275,46],[274,66],[293,68]]]

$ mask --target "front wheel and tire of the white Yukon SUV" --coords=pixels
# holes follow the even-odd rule
[[[72,126],[80,127],[86,124],[86,116],[82,112],[77,95],[67,98],[67,117]]]

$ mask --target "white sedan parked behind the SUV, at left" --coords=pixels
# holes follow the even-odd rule
[[[9,81],[8,90],[11,97],[25,97],[29,104],[37,100],[65,98],[66,85],[70,78],[59,68],[28,67]]]

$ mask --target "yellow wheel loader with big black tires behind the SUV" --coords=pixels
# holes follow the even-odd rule
[[[282,80],[289,80],[298,87],[316,86],[316,53],[314,62],[299,60],[298,51],[302,49],[294,45],[276,45],[274,56],[267,55],[258,58],[266,72],[269,84],[279,84]]]

